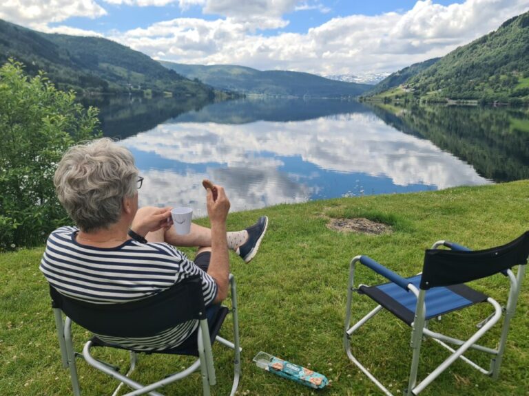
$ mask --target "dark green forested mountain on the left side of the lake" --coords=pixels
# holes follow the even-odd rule
[[[211,87],[188,80],[114,41],[45,34],[0,19],[0,65],[9,58],[23,63],[30,75],[45,71],[59,89],[214,96]]]

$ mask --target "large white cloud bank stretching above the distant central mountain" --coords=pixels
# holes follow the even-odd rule
[[[281,18],[284,12],[318,4],[208,0],[204,12],[229,17],[215,21],[174,19],[112,39],[146,54],[164,52],[165,60],[178,63],[232,64],[315,74],[394,72],[444,56],[529,9],[526,0],[467,0],[448,6],[426,0],[417,1],[404,13],[351,15],[331,19],[307,32],[280,32],[288,25]],[[260,33],[264,30],[278,32],[265,36]]]

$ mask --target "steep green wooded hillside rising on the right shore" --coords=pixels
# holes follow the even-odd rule
[[[529,102],[529,12],[509,19],[380,96]]]

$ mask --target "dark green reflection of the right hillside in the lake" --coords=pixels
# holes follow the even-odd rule
[[[398,131],[430,140],[494,181],[529,178],[529,115],[517,108],[372,108]]]

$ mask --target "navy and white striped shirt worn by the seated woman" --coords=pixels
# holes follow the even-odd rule
[[[214,279],[172,245],[129,239],[116,248],[94,248],[76,241],[78,231],[61,227],[52,232],[41,261],[40,270],[61,294],[96,304],[127,303],[200,274],[205,304],[213,303]],[[96,336],[123,347],[156,351],[178,346],[197,328],[198,320],[191,320],[148,338]]]

